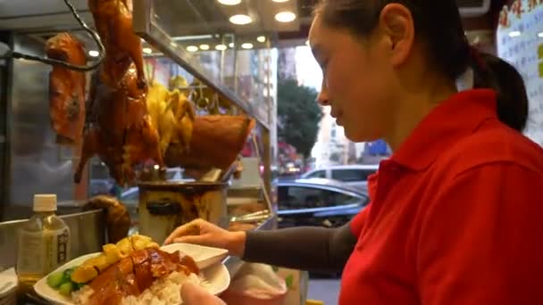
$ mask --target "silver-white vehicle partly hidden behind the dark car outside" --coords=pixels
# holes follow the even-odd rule
[[[368,177],[374,174],[379,165],[336,165],[323,169],[313,169],[302,175],[302,178],[327,178],[343,182],[363,192],[368,190]]]

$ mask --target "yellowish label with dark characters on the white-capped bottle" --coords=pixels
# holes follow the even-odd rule
[[[70,260],[70,230],[21,232],[19,240],[20,274],[46,275]]]

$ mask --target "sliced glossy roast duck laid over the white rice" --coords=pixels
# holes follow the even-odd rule
[[[199,273],[196,262],[179,251],[168,253],[154,248],[133,251],[100,273],[90,284],[88,304],[120,304],[122,298],[139,295],[171,272]]]

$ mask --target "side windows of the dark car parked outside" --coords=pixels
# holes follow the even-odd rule
[[[278,199],[279,210],[324,208],[361,202],[360,198],[341,191],[305,186],[280,186]]]

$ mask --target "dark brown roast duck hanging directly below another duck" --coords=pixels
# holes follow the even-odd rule
[[[146,107],[146,88],[138,87],[132,65],[117,88],[108,87],[100,77],[93,78],[89,93],[92,126],[84,139],[74,181],[79,183],[88,160],[97,154],[120,185],[134,181],[133,166],[153,160],[160,166],[163,157],[159,136]]]

